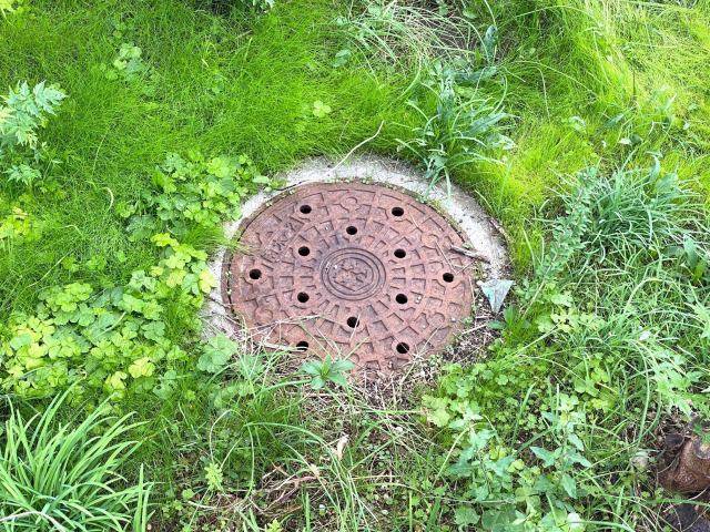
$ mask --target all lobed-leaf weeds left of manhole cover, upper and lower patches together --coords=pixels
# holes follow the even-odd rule
[[[40,296],[37,314],[13,315],[9,339],[0,342],[2,386],[26,397],[43,397],[85,375],[75,390],[103,388],[115,398],[124,397],[126,389],[153,390],[166,397],[176,370],[189,359],[171,338],[165,316],[175,305],[197,309],[215,279],[205,252],[156,232],[161,224],[183,236],[190,224],[216,227],[222,217],[234,215],[254,181],[258,174],[246,157],[204,160],[194,154],[186,162],[169,156],[155,173],[162,193],[146,195],[140,225],[135,221],[129,225],[136,239],[152,235],[155,246],[165,250],[163,258],[148,272],[133,272],[125,286],[50,287]],[[128,217],[139,206],[119,208]],[[195,328],[191,320],[184,318],[183,327]],[[233,352],[229,340],[217,337],[204,347],[197,368],[217,372]]]

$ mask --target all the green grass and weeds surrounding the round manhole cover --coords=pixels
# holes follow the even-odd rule
[[[707,2],[0,13],[3,530],[663,530],[659,438],[710,416]],[[200,319],[222,224],[353,149],[465,186],[516,279],[374,392]]]

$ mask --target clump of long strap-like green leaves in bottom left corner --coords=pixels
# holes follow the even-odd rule
[[[10,405],[0,453],[0,524],[8,531],[143,531],[151,484],[140,471],[125,485],[120,469],[138,449],[131,416],[102,403],[83,420],[60,421],[72,390],[29,420]]]

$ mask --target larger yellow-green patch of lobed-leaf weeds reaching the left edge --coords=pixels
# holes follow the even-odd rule
[[[161,390],[155,365],[163,361],[170,370],[186,357],[168,337],[166,308],[176,300],[197,308],[214,280],[204,252],[165,234],[154,242],[168,249],[165,257],[149,274],[134,272],[129,285],[101,291],[83,283],[52,287],[36,315],[14,315],[0,345],[3,388],[44,397],[82,381],[75,392],[104,387],[122,397],[130,374],[136,391]]]

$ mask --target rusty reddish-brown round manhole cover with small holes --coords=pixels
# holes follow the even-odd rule
[[[408,194],[304,185],[242,227],[224,265],[227,304],[267,345],[388,371],[440,350],[473,301],[466,239]]]

